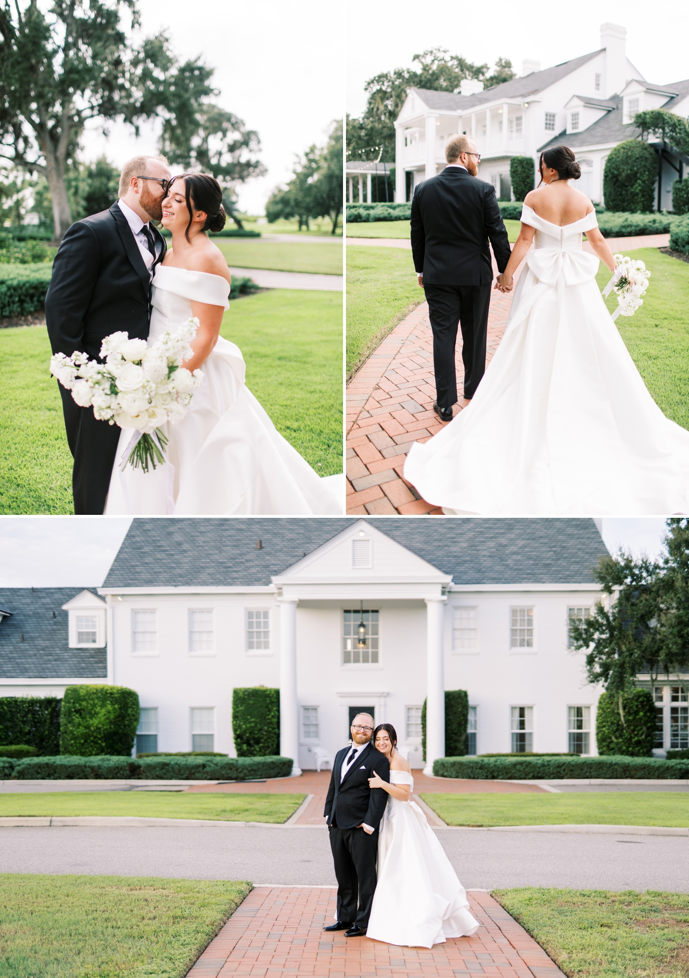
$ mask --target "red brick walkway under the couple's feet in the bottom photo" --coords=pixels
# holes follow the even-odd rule
[[[468,894],[481,927],[473,937],[425,948],[400,948],[368,938],[326,934],[334,887],[257,887],[189,972],[225,975],[312,975],[327,978],[406,975],[409,978],[564,978],[536,941],[487,893]]]

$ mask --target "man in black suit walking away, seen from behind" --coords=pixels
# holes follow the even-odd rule
[[[418,284],[425,289],[433,331],[436,401],[433,410],[452,421],[457,402],[454,346],[461,324],[464,397],[471,400],[486,371],[486,333],[493,284],[489,239],[497,268],[511,254],[495,199],[495,188],[477,180],[476,144],[453,136],[445,148],[448,165],[414,190],[411,252]]]

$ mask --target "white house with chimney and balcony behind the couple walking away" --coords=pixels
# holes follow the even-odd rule
[[[512,156],[533,156],[538,166],[541,150],[564,143],[581,162],[577,187],[604,203],[605,160],[619,143],[638,136],[634,114],[664,108],[689,115],[689,79],[649,84],[627,59],[625,37],[624,27],[604,23],[599,50],[543,70],[524,62],[521,77],[485,91],[475,81],[462,82],[456,93],[410,89],[395,122],[395,200],[410,200],[417,183],[439,173],[448,140],[465,133],[481,153],[479,176],[500,200],[511,196]],[[668,209],[672,180],[683,177],[689,157],[652,145],[663,159],[657,209]]]

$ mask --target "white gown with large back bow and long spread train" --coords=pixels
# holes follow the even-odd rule
[[[655,403],[605,307],[581,249],[595,213],[561,228],[525,204],[521,219],[536,235],[504,336],[471,403],[412,445],[405,478],[448,513],[689,513],[689,431]]]

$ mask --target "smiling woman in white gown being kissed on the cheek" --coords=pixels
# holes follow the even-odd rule
[[[229,308],[230,272],[207,230],[225,225],[222,191],[202,173],[175,177],[162,202],[172,234],[152,281],[149,345],[195,316],[194,356],[202,368],[181,422],[163,425],[164,466],[144,473],[122,468],[132,430],[123,429],[110,478],[106,514],[308,515],[342,514],[339,476],[321,478],[285,441],[244,385],[241,351],[220,335]]]

